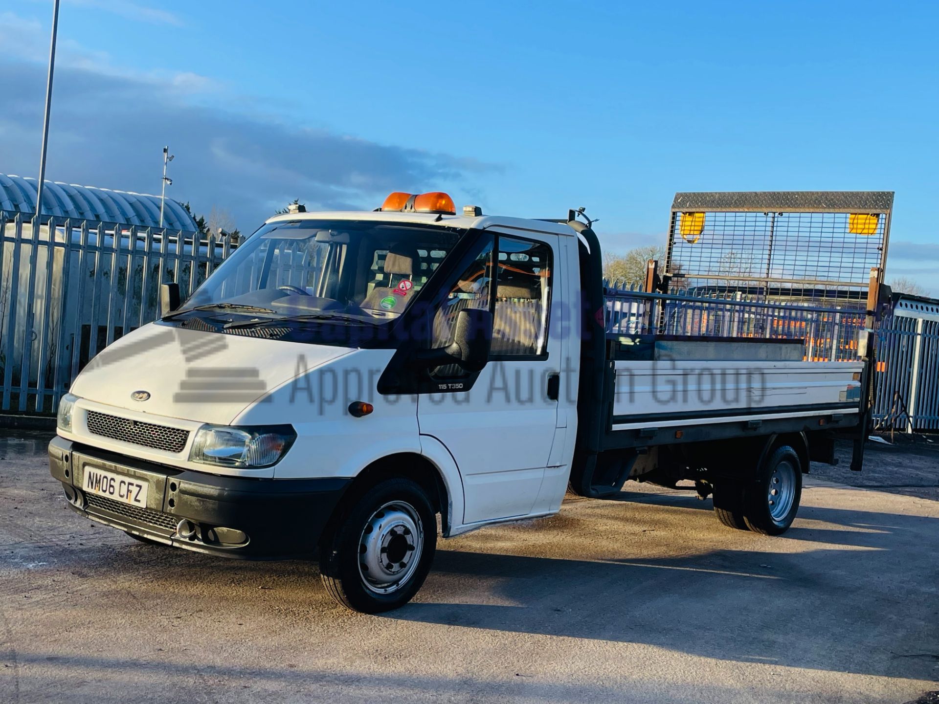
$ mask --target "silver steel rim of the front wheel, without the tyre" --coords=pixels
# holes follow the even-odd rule
[[[365,521],[359,574],[366,589],[390,594],[404,587],[423,554],[423,522],[407,501],[389,501]]]

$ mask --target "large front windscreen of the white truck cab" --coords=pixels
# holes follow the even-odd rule
[[[382,222],[269,222],[212,273],[183,311],[393,319],[461,235],[453,228]]]

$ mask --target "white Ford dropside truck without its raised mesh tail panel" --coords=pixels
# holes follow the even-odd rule
[[[798,341],[608,335],[576,216],[394,193],[271,218],[85,367],[52,474],[74,511],[146,543],[318,559],[363,612],[420,589],[437,514],[454,536],[557,513],[569,486],[691,479],[723,523],[789,528],[809,461],[866,432],[864,341],[832,363]]]

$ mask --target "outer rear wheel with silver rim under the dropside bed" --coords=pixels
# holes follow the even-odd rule
[[[756,482],[744,492],[747,528],[780,535],[793,525],[802,497],[802,463],[790,445],[781,445],[762,462]]]

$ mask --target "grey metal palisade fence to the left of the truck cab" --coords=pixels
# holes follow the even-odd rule
[[[52,414],[102,348],[156,319],[160,284],[185,297],[231,251],[198,233],[0,210],[4,412]]]

